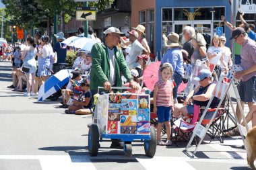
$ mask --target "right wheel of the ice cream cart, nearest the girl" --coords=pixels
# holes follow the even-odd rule
[[[148,157],[154,157],[156,153],[156,128],[153,126],[150,126],[150,140],[145,140],[144,142],[144,150],[146,153],[146,156]]]

